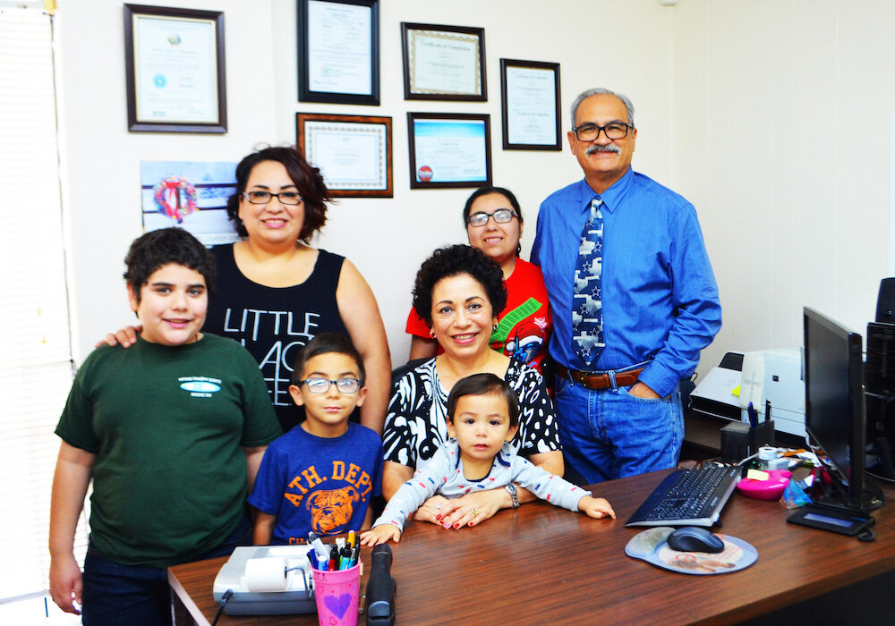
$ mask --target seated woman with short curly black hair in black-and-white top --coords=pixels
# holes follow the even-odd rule
[[[429,325],[431,337],[444,353],[396,382],[382,436],[386,460],[382,493],[386,499],[447,441],[447,395],[454,384],[482,372],[506,380],[519,397],[519,428],[511,442],[516,453],[551,474],[562,475],[556,416],[541,375],[489,346],[498,324],[497,312],[506,304],[500,266],[482,250],[449,246],[435,250],[423,262],[413,286],[413,309]],[[414,518],[462,528],[533,499],[512,484],[452,500],[435,495]]]

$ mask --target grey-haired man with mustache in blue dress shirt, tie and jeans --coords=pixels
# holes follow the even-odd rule
[[[721,309],[695,208],[631,169],[630,100],[590,89],[572,123],[584,180],[541,204],[532,261],[550,295],[567,478],[591,484],[677,464],[678,384]]]

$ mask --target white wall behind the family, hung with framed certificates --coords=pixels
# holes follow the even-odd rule
[[[564,132],[567,106],[580,91],[608,86],[632,97],[640,127],[635,165],[661,182],[669,179],[672,22],[669,9],[657,0],[554,0],[549,6],[517,0],[382,0],[381,106],[297,101],[294,0],[155,4],[225,12],[229,132],[224,137],[127,132],[121,3],[60,0],[65,200],[79,360],[99,337],[132,320],[121,272],[128,244],[141,233],[140,161],[238,160],[259,142],[294,142],[296,111],[393,118],[395,197],[339,200],[318,244],[351,258],[371,283],[396,363],[409,351],[404,325],[413,275],[435,247],[465,241],[460,215],[472,191],[409,189],[408,111],[490,114],[493,180],[514,190],[522,204],[526,258],[541,200],[580,178],[581,171],[567,149],[500,148],[501,57],[560,64]],[[483,27],[488,102],[405,101],[401,21]]]

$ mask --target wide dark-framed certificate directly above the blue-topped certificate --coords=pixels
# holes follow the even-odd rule
[[[488,99],[485,30],[401,22],[405,100]]]

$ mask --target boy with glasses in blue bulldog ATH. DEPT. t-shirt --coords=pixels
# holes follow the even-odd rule
[[[268,447],[249,503],[258,509],[256,546],[298,544],[308,532],[339,535],[370,527],[379,495],[382,441],[348,421],[363,404],[361,355],[345,335],[314,337],[295,360],[289,394],[305,420]]]

